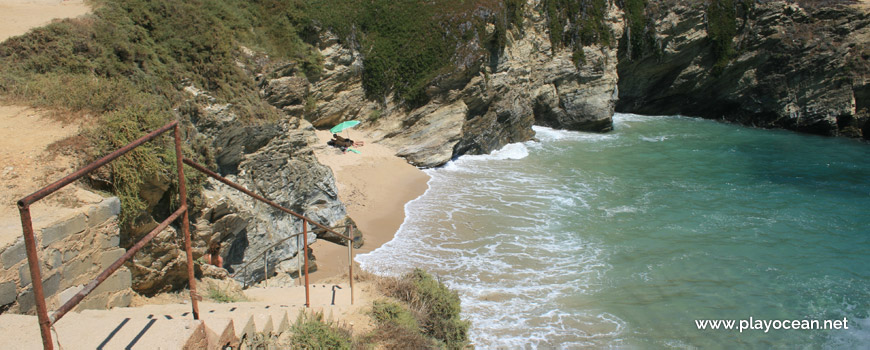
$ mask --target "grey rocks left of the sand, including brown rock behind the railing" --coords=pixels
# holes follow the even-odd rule
[[[207,92],[187,88],[191,103],[182,113],[190,123],[185,126],[189,140],[198,140],[213,152],[214,168],[220,175],[326,226],[353,224],[338,198],[332,171],[320,164],[312,150],[318,141],[314,127],[307,121],[287,116],[260,123],[243,122],[228,104],[215,103]],[[193,102],[196,101],[196,102]],[[286,110],[285,110],[286,112]],[[288,113],[289,114],[289,113]],[[168,181],[168,180],[167,180]],[[159,182],[155,182],[160,184]],[[149,196],[161,198],[167,186],[150,186]],[[201,198],[193,199],[196,211],[191,216],[193,257],[206,253],[210,243],[221,247],[223,267],[230,274],[250,263],[247,274],[239,273],[240,282],[256,283],[276,272],[296,275],[302,255],[302,222],[289,214],[261,203],[242,192],[208,179]],[[150,217],[149,217],[150,218]],[[135,228],[133,236],[156,226],[148,222]],[[284,240],[290,238],[289,240]],[[355,232],[356,246],[363,243],[362,233]],[[308,243],[316,239],[338,242],[309,226]],[[275,243],[268,254],[260,256]],[[137,254],[129,264],[133,288],[152,295],[178,289],[187,284],[186,257],[178,230],[167,229]],[[338,242],[343,244],[343,242]],[[315,271],[314,255],[310,270]],[[263,266],[268,263],[268,271]],[[217,275],[214,273],[217,271]],[[197,265],[197,275],[222,278],[223,270]]]

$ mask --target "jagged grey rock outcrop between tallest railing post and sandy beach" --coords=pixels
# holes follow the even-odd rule
[[[353,223],[338,200],[332,171],[317,162],[310,148],[317,142],[310,123],[288,118],[263,125],[228,126],[215,134],[218,168],[231,181],[321,224]],[[220,242],[224,267],[230,273],[250,263],[247,281],[256,282],[268,277],[264,262],[268,275],[276,267],[296,273],[303,243],[301,236],[296,237],[302,232],[301,220],[213,179],[204,198],[195,235],[199,242]],[[325,238],[318,237],[314,229],[309,228],[309,244]],[[278,242],[282,243],[257,257]],[[204,253],[205,246],[199,250]],[[310,266],[316,269],[313,262]],[[245,277],[238,274],[236,278]]]

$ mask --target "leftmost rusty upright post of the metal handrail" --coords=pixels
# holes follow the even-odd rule
[[[39,271],[39,256],[36,254],[36,239],[33,237],[33,221],[30,218],[30,206],[18,205],[21,214],[21,227],[24,229],[24,246],[27,253],[27,264],[30,267],[30,280],[33,281],[33,298],[36,301],[36,316],[39,319],[39,332],[42,334],[42,347],[54,349],[51,340],[51,320],[45,306],[45,293],[42,290],[42,276]]]

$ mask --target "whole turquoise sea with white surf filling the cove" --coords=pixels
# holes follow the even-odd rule
[[[614,128],[536,127],[428,170],[396,238],[357,260],[439,275],[482,349],[870,347],[870,145],[683,117]],[[849,329],[694,322],[750,317]]]

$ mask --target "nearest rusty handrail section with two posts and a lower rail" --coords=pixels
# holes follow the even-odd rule
[[[148,233],[148,235],[143,237],[133,247],[127,250],[127,252],[123,256],[121,256],[118,260],[112,263],[112,265],[110,265],[108,268],[103,270],[96,278],[91,280],[91,282],[89,282],[84,288],[82,288],[82,290],[76,293],[70,300],[64,303],[49,318],[48,308],[45,304],[45,293],[42,287],[42,276],[39,270],[39,256],[36,252],[36,238],[33,234],[33,221],[30,215],[30,205],[73,183],[74,181],[82,178],[88,173],[108,164],[109,162],[117,159],[118,157],[132,151],[136,147],[144,144],[145,142],[155,139],[157,136],[160,136],[161,134],[169,130],[173,130],[175,136],[175,158],[179,180],[180,207],[172,215],[170,215],[169,218],[160,223],[160,225],[158,225],[154,230]],[[178,219],[179,216],[182,216],[183,218],[181,229],[184,233],[184,247],[187,253],[187,273],[188,282],[190,283],[190,297],[191,307],[193,308],[193,318],[199,319],[199,305],[197,303],[196,282],[193,275],[193,258],[190,245],[190,225],[186,193],[187,189],[185,186],[182,158],[183,155],[181,153],[181,129],[178,125],[178,121],[173,121],[159,129],[149,132],[145,136],[142,136],[135,141],[130,142],[129,144],[119,148],[118,150],[109,153],[108,155],[86,165],[85,167],[75,171],[74,173],[67,175],[58,181],[55,181],[54,183],[45,186],[18,201],[18,211],[21,215],[21,228],[24,235],[24,244],[27,253],[27,263],[28,267],[30,268],[30,278],[33,283],[33,297],[36,304],[36,316],[39,319],[39,328],[42,335],[43,348],[54,349],[54,344],[51,339],[52,324],[56,323],[67,312],[75,308],[75,306],[78,305],[88,294],[93,292],[94,289],[96,289],[101,283],[103,283],[109,276],[111,276],[115,271],[121,268],[124,262],[132,258],[137,251],[139,251],[142,247],[145,246],[145,244],[151,241],[151,239],[153,239],[154,236],[156,236],[160,231],[166,229],[166,227],[169,226],[169,223]]]

